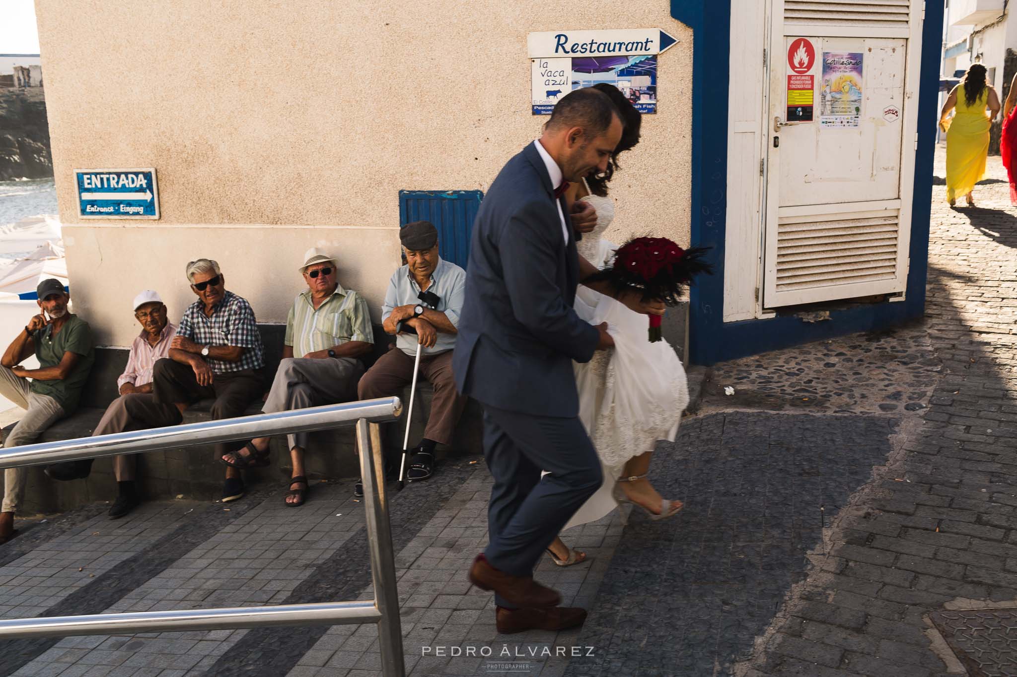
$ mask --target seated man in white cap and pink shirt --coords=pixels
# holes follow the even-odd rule
[[[169,355],[177,328],[169,322],[162,297],[151,289],[134,296],[131,307],[134,309],[134,319],[141,325],[141,333],[131,343],[127,366],[117,379],[120,397],[106,408],[93,435],[176,425],[180,422],[180,412],[176,407],[156,401],[152,385],[156,360]],[[49,466],[46,474],[58,480],[87,477],[92,471],[92,461],[87,459],[57,463]],[[114,520],[127,515],[138,503],[138,491],[134,485],[136,472],[137,460],[133,454],[113,457],[117,499],[110,506],[110,517]]]

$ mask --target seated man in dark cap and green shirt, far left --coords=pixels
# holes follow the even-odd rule
[[[92,328],[67,311],[70,294],[63,283],[43,280],[36,291],[42,312],[18,332],[0,358],[0,395],[25,410],[7,435],[6,448],[31,445],[50,425],[74,413],[96,359]],[[20,366],[33,353],[39,358],[39,368]],[[14,513],[24,499],[24,468],[4,471],[0,543],[17,535]]]

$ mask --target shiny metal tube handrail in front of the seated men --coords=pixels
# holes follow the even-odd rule
[[[395,420],[402,411],[400,399],[391,397],[0,450],[0,468],[12,468],[356,424],[374,588],[372,601],[14,618],[0,620],[0,639],[220,630],[262,625],[377,623],[381,670],[386,677],[403,677],[406,669],[396,588],[396,560],[386,489],[384,482],[379,481],[384,477],[384,470],[378,430],[379,422]]]

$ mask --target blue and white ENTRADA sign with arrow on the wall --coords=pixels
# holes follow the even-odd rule
[[[156,170],[75,170],[81,218],[159,218]]]

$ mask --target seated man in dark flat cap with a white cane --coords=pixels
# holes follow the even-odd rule
[[[360,380],[360,399],[392,397],[413,379],[413,363],[421,350],[420,375],[434,387],[431,413],[423,438],[411,450],[406,477],[419,481],[431,476],[434,447],[452,442],[453,430],[466,399],[456,391],[452,349],[463,310],[466,271],[438,256],[438,231],[428,221],[416,221],[400,230],[407,265],[388,281],[381,319],[384,330],[398,334],[390,350]],[[412,327],[416,336],[404,331]]]

